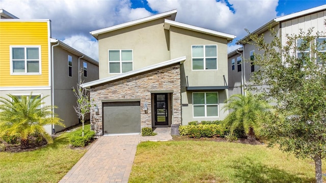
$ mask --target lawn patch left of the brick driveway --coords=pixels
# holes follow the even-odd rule
[[[90,129],[86,125],[85,129]],[[22,153],[0,152],[0,182],[58,182],[87,149],[70,149],[64,132],[53,144]]]

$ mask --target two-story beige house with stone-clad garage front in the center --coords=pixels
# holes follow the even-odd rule
[[[176,22],[177,11],[91,32],[99,80],[85,83],[97,135],[223,119],[235,36]]]

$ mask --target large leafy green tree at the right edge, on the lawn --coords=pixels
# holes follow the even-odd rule
[[[251,35],[259,54],[259,66],[252,77],[267,98],[275,100],[275,116],[265,124],[269,145],[293,153],[297,158],[312,158],[316,182],[322,182],[321,159],[326,155],[326,39],[313,29],[299,35],[287,35],[286,43],[270,29],[274,39],[266,43],[263,36]]]

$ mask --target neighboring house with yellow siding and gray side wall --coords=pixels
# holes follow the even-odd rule
[[[72,87],[82,80],[98,79],[98,62],[63,42],[51,38],[48,19],[18,19],[0,10],[0,96],[41,95],[66,127],[79,123],[73,109]],[[51,134],[62,127],[46,126]]]

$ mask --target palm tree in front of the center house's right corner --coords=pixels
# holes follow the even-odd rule
[[[230,134],[233,134],[236,128],[243,127],[250,141],[259,136],[261,123],[268,120],[270,114],[268,103],[250,92],[247,92],[246,96],[232,95],[223,108],[225,111],[232,111],[224,119],[224,125],[229,127]]]

